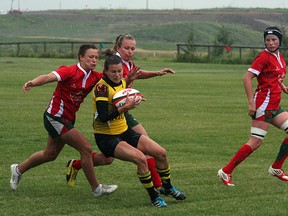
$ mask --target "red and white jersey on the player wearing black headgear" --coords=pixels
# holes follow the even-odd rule
[[[286,76],[286,63],[283,56],[263,50],[248,69],[257,76],[258,86],[254,101],[261,110],[277,110],[280,108],[281,83]]]

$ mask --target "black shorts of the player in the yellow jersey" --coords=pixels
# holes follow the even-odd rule
[[[106,157],[114,157],[115,148],[121,141],[126,141],[129,145],[137,148],[140,136],[141,134],[131,128],[119,135],[94,134],[98,148]]]

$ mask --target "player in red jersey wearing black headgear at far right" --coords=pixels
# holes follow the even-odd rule
[[[246,72],[243,82],[248,99],[249,112],[252,117],[251,135],[230,160],[230,162],[218,171],[219,178],[227,186],[232,183],[232,172],[243,160],[262,144],[270,125],[288,132],[288,112],[280,107],[281,93],[288,93],[283,84],[286,76],[286,63],[279,52],[282,32],[277,27],[268,27],[264,31],[263,50],[253,61]],[[252,91],[252,80],[257,77],[258,86]],[[279,154],[269,167],[268,172],[283,180],[288,181],[288,176],[282,170],[282,165],[288,156],[288,137],[283,140]]]

